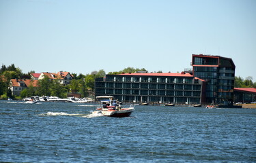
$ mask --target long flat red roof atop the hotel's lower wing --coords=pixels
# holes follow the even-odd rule
[[[193,75],[190,75],[190,73],[123,73],[118,75],[193,77]]]

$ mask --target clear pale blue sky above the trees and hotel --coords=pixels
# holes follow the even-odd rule
[[[0,64],[24,73],[181,72],[192,54],[211,54],[256,81],[255,9],[255,0],[1,0]]]

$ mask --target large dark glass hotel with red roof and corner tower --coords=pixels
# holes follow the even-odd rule
[[[231,58],[192,56],[193,70],[182,73],[124,73],[96,79],[96,96],[128,103],[231,105],[235,65]]]

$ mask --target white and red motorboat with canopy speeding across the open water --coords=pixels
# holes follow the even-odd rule
[[[109,117],[128,117],[134,111],[135,105],[122,108],[113,96],[97,96],[97,100],[101,103],[101,107],[97,107],[93,114],[101,113]],[[102,100],[100,100],[102,99]]]

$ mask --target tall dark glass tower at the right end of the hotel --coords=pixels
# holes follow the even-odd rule
[[[208,103],[231,105],[235,65],[230,58],[193,55],[193,75],[204,79]]]

